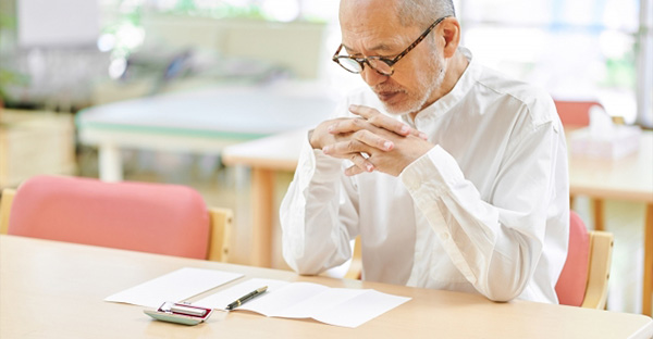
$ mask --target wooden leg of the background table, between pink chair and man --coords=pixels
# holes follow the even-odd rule
[[[274,225],[274,172],[251,170],[251,263],[272,266],[272,225]]]

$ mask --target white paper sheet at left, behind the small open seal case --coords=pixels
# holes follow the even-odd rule
[[[104,301],[156,309],[165,301],[180,302],[242,276],[239,273],[184,267],[109,296]]]

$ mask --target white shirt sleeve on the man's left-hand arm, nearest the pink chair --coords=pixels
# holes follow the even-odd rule
[[[358,204],[343,161],[313,150],[308,137],[304,143],[280,217],[284,260],[297,273],[313,275],[352,258]]]

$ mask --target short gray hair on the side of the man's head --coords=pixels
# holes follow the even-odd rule
[[[452,0],[399,0],[397,7],[403,26],[429,27],[439,17],[456,15]]]

